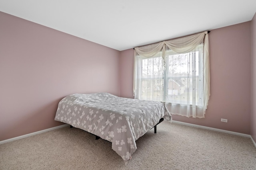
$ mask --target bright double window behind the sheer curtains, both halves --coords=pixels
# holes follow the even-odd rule
[[[174,51],[166,53],[166,69],[163,69],[163,59],[160,56],[142,57],[141,82],[138,99],[196,105],[202,105],[202,45],[196,51],[177,54]],[[141,56],[140,56],[141,57]]]

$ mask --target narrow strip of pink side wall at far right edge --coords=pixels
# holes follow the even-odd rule
[[[256,14],[251,21],[251,136],[256,142]]]

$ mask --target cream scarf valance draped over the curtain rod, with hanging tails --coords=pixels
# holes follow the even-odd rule
[[[176,53],[188,53],[200,44],[204,44],[204,99],[203,99],[203,115],[199,117],[204,117],[205,110],[208,106],[208,100],[210,98],[210,64],[209,64],[209,39],[208,31],[197,33],[194,35],[189,35],[186,37],[181,37],[178,39],[172,39],[168,41],[162,41],[159,43],[146,45],[142,47],[134,48],[134,84],[133,84],[133,93],[136,93],[137,90],[137,56],[143,56],[146,58],[154,57],[155,55],[162,52],[162,58],[164,61],[164,68],[166,67],[166,57],[165,53],[167,49],[170,49]],[[193,113],[194,114],[194,113]],[[194,116],[193,117],[198,117]]]

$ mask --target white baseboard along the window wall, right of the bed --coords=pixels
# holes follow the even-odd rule
[[[172,122],[173,123],[177,123],[177,124],[181,124],[181,125],[187,125],[187,126],[192,126],[192,127],[199,127],[199,128],[202,128],[202,129],[208,129],[208,130],[212,130],[212,131],[218,131],[218,132],[223,132],[223,133],[229,133],[229,134],[232,134],[232,135],[248,137],[248,138],[252,139],[251,135],[247,135],[247,134],[244,134],[244,133],[237,133],[237,132],[226,131],[226,130],[222,130],[222,129],[216,129],[216,128],[212,128],[212,127],[207,127],[207,126],[194,125],[194,124],[191,124],[191,123],[184,123],[184,122],[181,122],[181,121],[172,121]],[[255,145],[255,142],[253,140],[252,140],[252,142]],[[255,145],[255,147],[256,147],[256,145]]]

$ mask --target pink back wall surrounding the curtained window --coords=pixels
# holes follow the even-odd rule
[[[211,96],[205,118],[173,120],[250,134],[250,21],[211,30]],[[133,49],[121,51],[121,96],[132,96]],[[228,119],[228,123],[220,119]],[[255,122],[254,122],[255,123]]]

